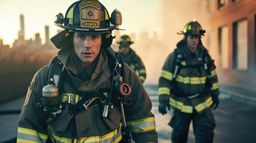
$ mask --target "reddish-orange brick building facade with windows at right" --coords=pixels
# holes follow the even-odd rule
[[[214,31],[221,83],[256,87],[256,1],[216,0],[209,23]]]

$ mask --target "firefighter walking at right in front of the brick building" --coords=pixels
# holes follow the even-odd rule
[[[168,55],[159,76],[159,113],[172,107],[171,141],[187,142],[190,122],[196,142],[213,142],[215,120],[211,108],[218,107],[220,94],[214,60],[202,45],[198,21],[186,24],[184,38]]]

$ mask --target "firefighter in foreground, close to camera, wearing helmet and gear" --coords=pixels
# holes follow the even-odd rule
[[[64,29],[51,38],[58,58],[30,83],[17,142],[130,142],[130,133],[135,142],[158,142],[149,96],[110,47],[121,16],[97,0],[56,15]]]

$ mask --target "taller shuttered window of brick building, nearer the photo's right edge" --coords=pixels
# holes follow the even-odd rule
[[[233,47],[233,69],[248,69],[248,32],[247,20],[240,20],[233,24],[234,47]]]

